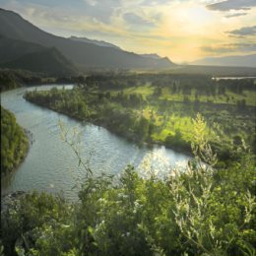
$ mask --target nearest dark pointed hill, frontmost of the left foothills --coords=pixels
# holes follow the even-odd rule
[[[49,75],[69,76],[77,74],[76,68],[56,48],[25,54],[17,59],[1,63],[2,68],[23,69]]]

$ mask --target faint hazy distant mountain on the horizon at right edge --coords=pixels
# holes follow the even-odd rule
[[[191,63],[192,65],[256,67],[256,54],[243,56],[209,57]]]

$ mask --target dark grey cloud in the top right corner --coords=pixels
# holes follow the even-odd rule
[[[256,7],[255,0],[224,0],[222,2],[207,5],[209,10],[221,12],[230,10],[250,10],[252,7]]]

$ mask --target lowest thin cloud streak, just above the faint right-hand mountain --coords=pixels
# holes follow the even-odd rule
[[[211,53],[251,52],[256,51],[256,43],[224,43],[218,46],[203,46],[201,49]]]

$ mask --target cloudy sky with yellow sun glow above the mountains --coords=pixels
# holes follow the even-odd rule
[[[0,0],[36,27],[176,63],[256,53],[256,0]]]

